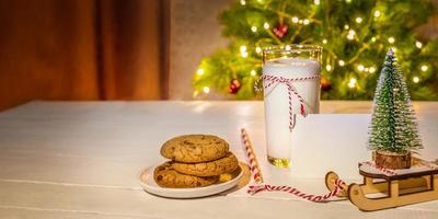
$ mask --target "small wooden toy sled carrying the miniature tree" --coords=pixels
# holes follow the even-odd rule
[[[337,196],[348,198],[360,210],[381,210],[438,199],[437,165],[414,165],[390,173],[364,162],[359,163],[359,173],[364,183],[346,184]],[[330,191],[335,189],[337,178],[334,172],[325,175],[325,185]]]

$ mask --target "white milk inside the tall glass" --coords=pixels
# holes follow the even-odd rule
[[[318,60],[281,58],[265,61],[263,73],[287,79],[320,74]],[[269,83],[269,81],[264,81]],[[308,113],[320,111],[320,80],[293,82],[302,96]],[[289,130],[289,96],[286,84],[273,84],[264,91],[267,154],[275,159],[290,159],[291,132]],[[292,108],[300,115],[300,102],[292,94]],[[300,124],[296,124],[299,126]]]

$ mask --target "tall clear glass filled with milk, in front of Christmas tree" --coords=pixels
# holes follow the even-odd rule
[[[286,79],[306,78],[320,74],[322,48],[312,45],[287,45],[263,49],[263,74]],[[289,92],[284,83],[264,80],[264,105],[266,123],[267,159],[269,163],[280,168],[290,165],[291,131]],[[296,91],[302,96],[306,111],[318,114],[320,111],[320,79],[292,82]],[[301,116],[301,103],[291,95],[292,113]],[[293,116],[292,116],[293,117]],[[301,120],[306,123],[306,119]],[[299,126],[299,124],[295,124]]]

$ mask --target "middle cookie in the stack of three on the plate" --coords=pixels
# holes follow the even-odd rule
[[[203,162],[203,163],[174,162],[173,168],[177,172],[188,175],[212,176],[235,171],[239,168],[239,162],[234,154],[228,152],[226,157],[209,162]]]

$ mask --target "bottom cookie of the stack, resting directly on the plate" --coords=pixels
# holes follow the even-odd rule
[[[219,176],[194,176],[178,173],[173,169],[172,162],[165,162],[155,168],[153,171],[153,180],[161,187],[170,188],[193,188],[203,187],[214,184]]]

